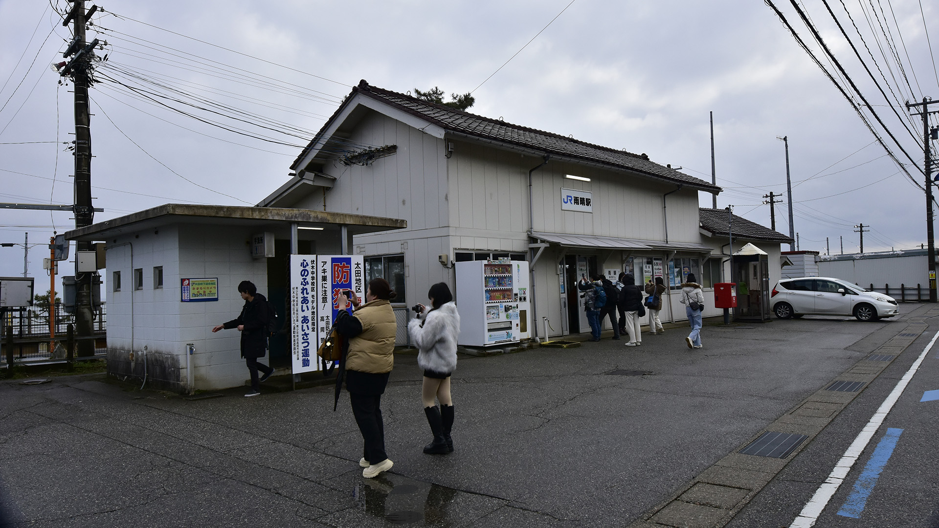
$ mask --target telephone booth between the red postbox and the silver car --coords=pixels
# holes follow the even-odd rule
[[[733,254],[732,281],[737,285],[737,306],[734,320],[770,320],[769,256],[759,247],[747,243]]]

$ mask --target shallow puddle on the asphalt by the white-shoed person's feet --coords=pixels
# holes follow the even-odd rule
[[[352,489],[352,498],[365,513],[386,524],[450,526],[448,506],[456,490],[397,474],[365,479]]]

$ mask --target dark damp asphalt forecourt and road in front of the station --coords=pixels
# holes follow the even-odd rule
[[[430,433],[421,371],[413,355],[398,354],[382,402],[394,467],[371,480],[357,464],[362,440],[348,398],[331,412],[331,387],[191,401],[102,376],[5,381],[0,503],[23,526],[626,526],[900,333],[908,318],[925,320],[914,344],[728,524],[789,526],[939,331],[924,316],[929,308],[904,304],[901,318],[875,323],[708,324],[704,348],[695,350],[676,327],[643,334],[637,348],[605,338],[461,357],[448,456],[422,453]],[[939,400],[919,402],[939,389],[936,350],[819,526],[939,526]],[[645,374],[608,374],[614,370]],[[888,427],[903,430],[860,519],[839,516]]]

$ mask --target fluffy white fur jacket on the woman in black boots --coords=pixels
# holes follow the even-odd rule
[[[411,319],[408,332],[417,345],[418,366],[436,372],[453,372],[456,369],[456,337],[460,334],[460,314],[456,311],[456,303],[445,303],[420,318]]]

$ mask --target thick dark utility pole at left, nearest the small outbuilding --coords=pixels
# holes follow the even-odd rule
[[[91,73],[92,57],[98,46],[98,39],[85,43],[85,23],[98,9],[92,6],[85,13],[85,0],[74,0],[71,11],[62,25],[73,23],[73,34],[69,48],[62,56],[72,56],[69,63],[59,70],[63,77],[69,76],[74,86],[75,95],[75,228],[85,227],[94,222],[94,209],[91,204],[91,122],[88,112],[88,86],[93,80]],[[92,306],[91,287],[95,272],[78,272],[77,252],[92,251],[91,242],[79,241],[76,244],[75,257],[75,330],[79,337],[93,334],[94,307]],[[77,343],[79,356],[95,354],[94,342],[80,339]]]

